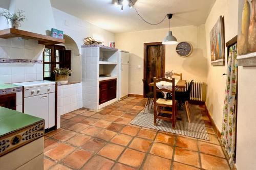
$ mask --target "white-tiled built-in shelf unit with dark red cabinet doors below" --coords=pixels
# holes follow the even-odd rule
[[[98,110],[116,102],[119,51],[99,44],[82,45],[81,51],[83,107]]]

